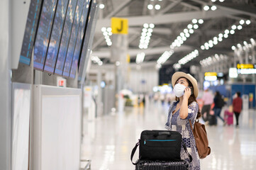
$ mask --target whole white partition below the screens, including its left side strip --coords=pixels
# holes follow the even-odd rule
[[[34,170],[79,170],[81,90],[34,85]]]

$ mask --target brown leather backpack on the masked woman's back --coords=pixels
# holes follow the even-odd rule
[[[207,157],[207,155],[211,153],[211,148],[208,147],[206,128],[204,124],[199,123],[199,121],[195,121],[194,129],[192,127],[191,120],[189,120],[189,124],[196,141],[196,149],[197,152],[199,153],[199,158],[204,159],[205,157]]]

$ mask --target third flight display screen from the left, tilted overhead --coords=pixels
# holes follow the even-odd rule
[[[62,35],[62,29],[67,11],[67,3],[68,0],[59,0],[57,3],[57,10],[52,26],[52,34],[50,35],[50,43],[45,60],[45,72],[53,73],[55,69],[57,53],[60,46],[60,38]]]

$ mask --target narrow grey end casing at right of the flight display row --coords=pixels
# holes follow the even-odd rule
[[[96,26],[96,1],[92,1],[91,9],[89,12],[89,18],[87,23],[87,29],[85,32],[84,43],[82,46],[82,54],[80,55],[79,60],[79,71],[78,71],[78,80],[81,80],[83,70],[87,69],[87,63],[89,60],[89,53],[91,52],[91,43],[94,39],[94,31]]]

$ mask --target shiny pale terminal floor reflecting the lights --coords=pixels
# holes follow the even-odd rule
[[[167,110],[167,106],[152,103],[145,108],[125,108],[123,113],[95,120],[84,118],[82,159],[91,159],[92,170],[135,169],[130,162],[130,152],[140,132],[164,130]],[[201,169],[256,169],[256,111],[243,111],[239,128],[223,127],[221,120],[218,123],[206,126],[211,154],[201,159]],[[136,158],[138,152],[134,162]]]

